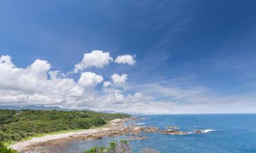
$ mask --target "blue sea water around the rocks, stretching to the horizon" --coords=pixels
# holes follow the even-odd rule
[[[156,126],[165,129],[174,125],[181,131],[212,129],[209,133],[189,135],[163,135],[143,133],[150,137],[145,140],[130,141],[136,153],[140,148],[150,147],[162,153],[255,153],[256,152],[256,114],[218,114],[218,115],[158,115],[141,116],[137,120],[141,126]],[[91,146],[107,146],[110,141],[125,139],[121,137],[104,137],[98,140],[79,140],[68,143],[67,152],[83,152]]]

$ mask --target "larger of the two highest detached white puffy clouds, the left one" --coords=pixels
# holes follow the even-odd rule
[[[85,53],[83,60],[74,66],[74,73],[78,73],[89,67],[102,68],[105,65],[109,65],[112,61],[113,58],[109,55],[109,52],[93,50],[90,53]]]

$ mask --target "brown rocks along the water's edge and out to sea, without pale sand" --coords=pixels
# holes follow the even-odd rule
[[[119,135],[128,135],[128,141],[132,140],[144,140],[148,139],[141,135],[142,133],[161,133],[165,135],[188,135],[186,131],[178,131],[177,126],[167,126],[165,130],[160,131],[156,127],[149,126],[135,126],[134,120],[139,118],[126,118],[126,119],[116,119],[112,120],[106,126],[98,129],[89,129],[87,131],[82,131],[70,135],[69,137],[62,139],[55,139],[51,141],[46,141],[42,143],[36,143],[28,146],[23,150],[23,152],[58,152],[61,148],[65,148],[65,144],[69,141],[75,141],[79,139],[101,139],[102,137],[116,137]],[[131,124],[126,125],[126,122],[130,121]],[[207,131],[197,130],[193,133],[206,133]]]

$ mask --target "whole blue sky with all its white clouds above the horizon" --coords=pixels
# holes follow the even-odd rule
[[[256,113],[256,1],[0,1],[0,107]]]

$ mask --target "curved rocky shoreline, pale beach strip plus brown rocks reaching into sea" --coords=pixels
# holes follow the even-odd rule
[[[101,139],[102,137],[116,137],[119,135],[132,135],[128,137],[128,141],[143,140],[148,137],[141,136],[141,133],[162,133],[166,135],[187,135],[188,132],[177,131],[176,126],[168,126],[166,130],[160,131],[156,127],[134,126],[134,124],[126,125],[126,122],[137,120],[138,118],[124,118],[111,120],[103,128],[88,129],[84,131],[77,131],[72,133],[61,133],[55,135],[46,135],[44,137],[35,137],[28,141],[18,142],[10,148],[18,150],[21,153],[59,153],[61,147],[66,146],[70,141],[77,141],[79,139]],[[202,131],[195,131],[194,133],[203,133]],[[139,135],[139,136],[137,136]],[[58,148],[56,148],[58,146]]]

